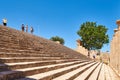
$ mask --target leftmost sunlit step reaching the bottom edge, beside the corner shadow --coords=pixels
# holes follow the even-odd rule
[[[64,68],[60,68],[60,69],[56,69],[56,70],[52,70],[52,71],[48,71],[48,72],[44,72],[44,73],[40,73],[40,74],[27,76],[26,78],[35,79],[35,80],[52,80],[55,77],[61,76],[70,71],[73,71],[74,69],[80,68],[80,67],[88,65],[88,64],[93,65],[93,64],[95,64],[95,62],[92,62],[92,63],[85,62],[85,63],[81,63],[81,64],[76,64],[76,65],[72,65],[72,66],[68,66],[68,67],[64,67]],[[18,80],[25,80],[26,78],[22,78],[22,79],[18,79]]]

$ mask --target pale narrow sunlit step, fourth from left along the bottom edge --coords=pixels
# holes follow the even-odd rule
[[[90,75],[90,77],[88,78],[88,80],[98,80],[99,77],[99,72],[101,70],[103,63],[100,63],[100,65],[95,69],[95,71]]]

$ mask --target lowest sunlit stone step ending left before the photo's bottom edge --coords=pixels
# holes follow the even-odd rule
[[[17,69],[17,71],[22,71],[26,74],[26,76],[29,76],[29,75],[34,75],[37,73],[47,72],[50,70],[59,69],[59,68],[72,66],[72,65],[76,65],[76,64],[81,64],[81,63],[85,63],[85,62],[84,61],[74,61],[74,62],[67,62],[67,63],[51,64],[51,65],[45,65],[45,66],[41,66],[41,67]]]

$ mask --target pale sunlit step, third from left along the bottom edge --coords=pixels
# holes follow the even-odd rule
[[[87,80],[88,76],[91,75],[91,72],[96,69],[99,63],[95,64],[94,66],[90,67],[88,70],[77,76],[74,80]]]

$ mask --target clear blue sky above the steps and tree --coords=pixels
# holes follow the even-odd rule
[[[65,46],[75,49],[80,38],[76,32],[86,21],[105,25],[111,41],[116,20],[120,19],[120,0],[0,0],[0,24],[3,18],[18,30],[21,24],[28,24],[37,36],[62,37]],[[108,44],[102,51],[109,49]]]

